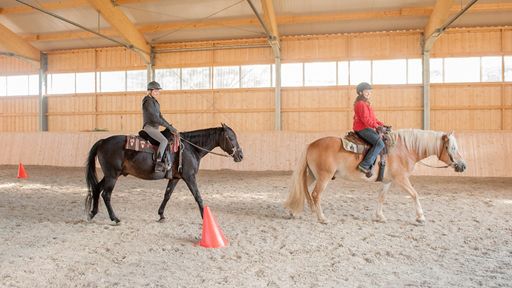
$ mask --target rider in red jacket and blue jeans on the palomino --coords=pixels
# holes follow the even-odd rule
[[[371,175],[369,172],[371,172],[377,155],[379,155],[380,151],[384,148],[384,142],[376,129],[384,126],[384,123],[375,117],[370,105],[372,86],[366,82],[362,82],[357,85],[356,92],[357,98],[354,102],[354,124],[352,129],[354,129],[354,132],[356,132],[359,137],[372,145],[372,148],[366,153],[366,156],[363,161],[359,163],[357,168],[366,175]]]

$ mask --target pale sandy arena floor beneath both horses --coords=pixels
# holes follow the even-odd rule
[[[205,204],[230,241],[195,246],[201,218],[180,182],[157,209],[166,181],[122,177],[85,221],[83,169],[0,166],[0,287],[511,287],[512,178],[414,177],[427,218],[415,225],[393,187],[375,223],[378,184],[333,181],[329,224],[309,211],[287,219],[290,173],[204,171]],[[362,185],[362,186],[361,186]],[[360,187],[359,187],[360,186]]]

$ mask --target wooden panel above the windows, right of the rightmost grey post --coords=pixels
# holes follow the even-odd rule
[[[432,57],[500,55],[501,29],[450,29],[434,44]]]

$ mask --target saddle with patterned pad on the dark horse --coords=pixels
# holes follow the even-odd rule
[[[172,166],[174,164],[174,154],[179,151],[179,158],[178,158],[178,171],[181,173],[182,171],[182,151],[183,149],[179,149],[182,147],[181,141],[174,137],[173,134],[169,131],[169,129],[165,129],[161,132],[165,138],[169,141],[169,144],[167,144],[167,147],[164,150],[163,160],[165,167],[167,168],[166,177],[167,174],[172,175],[170,173]],[[153,154],[153,161],[156,164],[156,154],[158,151],[158,146],[160,143],[153,139],[151,136],[148,135],[148,133],[144,130],[139,131],[139,135],[128,135],[126,137],[126,144],[125,149],[128,150],[134,150],[139,152],[145,152],[145,153],[151,153]]]

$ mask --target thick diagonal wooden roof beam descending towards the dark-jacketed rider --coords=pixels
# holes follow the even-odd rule
[[[146,42],[144,35],[137,30],[135,25],[126,15],[112,4],[110,0],[87,0],[103,18],[139,52],[146,63],[151,62],[151,47]]]

